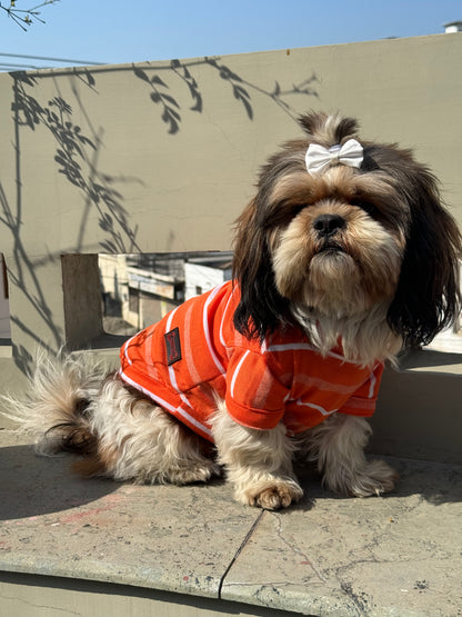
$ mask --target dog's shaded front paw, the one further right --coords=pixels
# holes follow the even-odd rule
[[[341,480],[338,479],[329,488],[335,492],[351,495],[352,497],[369,497],[382,495],[393,490],[398,472],[383,460],[372,460],[356,471],[346,472]]]

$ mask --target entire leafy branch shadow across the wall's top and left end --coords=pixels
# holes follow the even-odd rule
[[[149,87],[149,98],[159,108],[169,135],[179,132],[184,122],[185,110],[202,113],[205,105],[213,103],[213,101],[210,103],[205,100],[207,94],[198,81],[199,77],[194,77],[194,67],[199,66],[210,69],[218,79],[229,86],[230,97],[237,101],[244,118],[250,121],[254,120],[257,113],[255,94],[268,98],[293,119],[297,118],[297,112],[290,106],[290,97],[318,97],[314,89],[318,78],[314,72],[297,86],[283,88],[280,81],[275,80],[274,87],[265,90],[259,84],[243,79],[219,58],[191,61],[172,60],[165,64],[157,63],[152,67],[149,63],[148,66],[133,64],[134,76]],[[11,110],[14,127],[17,189],[14,198],[7,197],[0,185],[0,221],[12,238],[12,263],[8,268],[10,281],[22,293],[22,301],[33,308],[36,316],[44,327],[40,328],[41,334],[38,334],[14,314],[11,316],[11,321],[24,335],[23,340],[29,339],[31,346],[41,346],[50,351],[56,351],[66,342],[66,332],[53,319],[41,268],[60,260],[62,252],[84,252],[86,235],[89,225],[94,225],[92,219],[94,219],[96,212],[102,232],[102,239],[99,240],[97,249],[99,252],[141,252],[137,242],[138,228],[133,227],[130,221],[130,213],[124,207],[124,197],[120,185],[124,182],[142,185],[143,182],[139,178],[114,176],[101,170],[99,158],[103,148],[104,129],[102,127],[94,128],[76,86],[82,83],[84,89],[98,94],[98,74],[116,70],[127,72],[130,69],[106,67],[91,71],[79,68],[71,71],[10,73],[13,93]],[[60,74],[71,77],[69,80],[71,94],[62,94],[58,79]],[[56,83],[54,92],[44,99],[39,86],[42,80],[50,78]],[[178,80],[183,84],[183,89],[177,88]],[[76,117],[83,119],[83,122],[77,122]],[[28,222],[23,220],[23,155],[21,152],[23,131],[34,131],[38,140],[43,139],[44,136],[48,136],[47,139],[52,139],[53,160],[50,161],[50,165],[54,166],[56,172],[66,178],[80,192],[82,199],[79,223],[76,226],[72,245],[63,247],[61,242],[58,245],[58,251],[43,255],[47,252],[43,250],[39,259],[31,259],[23,233],[23,225]],[[30,162],[30,159],[28,160]],[[27,349],[22,344],[17,345],[14,341],[13,345],[14,360],[21,370],[27,372],[32,362],[31,349]]]

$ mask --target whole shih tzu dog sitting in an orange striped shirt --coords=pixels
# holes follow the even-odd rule
[[[352,496],[393,488],[368,461],[385,361],[458,316],[458,227],[409,150],[354,119],[310,113],[263,167],[238,219],[233,280],[177,307],[103,375],[84,355],[41,358],[12,415],[41,454],[135,482],[205,481],[275,509],[302,497],[295,455]]]

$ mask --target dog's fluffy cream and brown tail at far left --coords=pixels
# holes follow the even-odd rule
[[[91,431],[91,401],[106,375],[107,369],[87,355],[60,352],[51,358],[39,352],[23,398],[2,397],[7,408],[3,415],[17,422],[20,431],[33,435],[38,454],[91,455],[97,447]]]

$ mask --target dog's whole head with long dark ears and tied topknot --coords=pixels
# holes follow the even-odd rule
[[[269,160],[238,221],[235,326],[262,338],[297,314],[338,325],[373,315],[405,342],[428,342],[458,310],[461,256],[434,177],[409,150],[356,139],[352,119],[301,125],[308,138]]]

